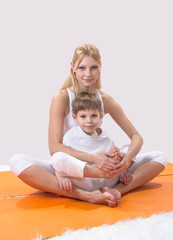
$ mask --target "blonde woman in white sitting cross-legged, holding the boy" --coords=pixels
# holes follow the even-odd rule
[[[132,165],[132,159],[140,151],[143,140],[120,105],[100,90],[100,69],[100,53],[95,46],[83,44],[76,48],[71,62],[70,75],[62,89],[52,99],[49,120],[49,149],[51,155],[56,152],[65,152],[82,161],[95,163],[102,171],[120,173]],[[76,124],[72,119],[71,102],[80,92],[97,93],[102,101],[104,114],[110,114],[115,123],[130,138],[130,147],[121,163],[115,165],[113,158],[111,158],[113,156],[107,152],[94,154],[80,152],[62,144],[63,134]],[[75,188],[71,193],[62,191],[48,161],[25,155],[15,155],[10,160],[10,166],[14,174],[34,188],[114,207],[119,201],[120,194],[125,194],[150,181],[163,171],[166,165],[166,157],[162,152],[146,153],[141,155],[140,159],[143,164],[134,170],[133,180],[130,184],[119,183],[114,189],[105,188],[104,192],[87,192],[79,188]]]

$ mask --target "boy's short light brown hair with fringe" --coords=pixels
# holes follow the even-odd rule
[[[101,101],[96,94],[82,92],[72,101],[72,111],[75,115],[77,115],[79,111],[90,109],[98,110],[100,113],[102,112]]]

